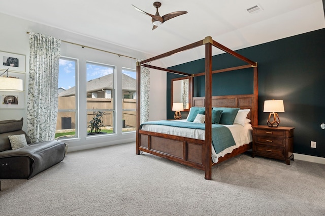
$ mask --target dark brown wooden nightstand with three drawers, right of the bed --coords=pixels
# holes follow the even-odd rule
[[[294,160],[294,128],[253,126],[253,151],[255,155],[285,160],[290,165]]]

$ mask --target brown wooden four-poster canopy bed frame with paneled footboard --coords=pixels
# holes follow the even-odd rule
[[[199,74],[188,74],[175,70],[165,69],[148,65],[146,63],[158,60],[181,51],[205,46],[205,72]],[[231,67],[221,70],[212,71],[212,46],[226,53],[229,53],[236,58],[243,60],[248,65]],[[205,139],[193,139],[188,137],[180,137],[176,135],[156,133],[144,131],[140,124],[140,71],[141,67],[149,67],[153,69],[163,70],[171,73],[181,74],[184,76],[195,77],[205,75],[205,97],[192,98],[192,107],[205,107]],[[239,70],[244,68],[253,68],[253,94],[249,95],[232,95],[232,96],[212,96],[212,74]],[[251,120],[251,125],[257,125],[257,100],[258,100],[258,84],[257,84],[257,63],[253,62],[244,56],[220,45],[212,40],[210,36],[203,40],[194,42],[193,44],[182,48],[158,55],[141,62],[137,62],[137,135],[136,135],[136,154],[140,151],[164,157],[194,168],[199,168],[205,171],[205,179],[211,180],[212,165],[212,108],[213,107],[232,107],[240,109],[250,109],[247,118]],[[238,154],[241,154],[251,149],[251,142],[234,149],[231,153],[225,154],[218,158],[218,162],[224,161]]]

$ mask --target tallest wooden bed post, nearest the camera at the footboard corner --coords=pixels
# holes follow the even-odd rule
[[[205,179],[212,179],[212,38],[203,40],[205,44],[205,146],[204,146],[204,170]]]

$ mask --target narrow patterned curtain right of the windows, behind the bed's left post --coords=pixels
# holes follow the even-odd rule
[[[140,60],[141,61],[141,60]],[[140,123],[149,120],[150,69],[141,67],[140,81]]]

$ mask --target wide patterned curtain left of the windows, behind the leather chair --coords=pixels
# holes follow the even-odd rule
[[[29,33],[27,134],[32,142],[53,140],[61,40]]]

